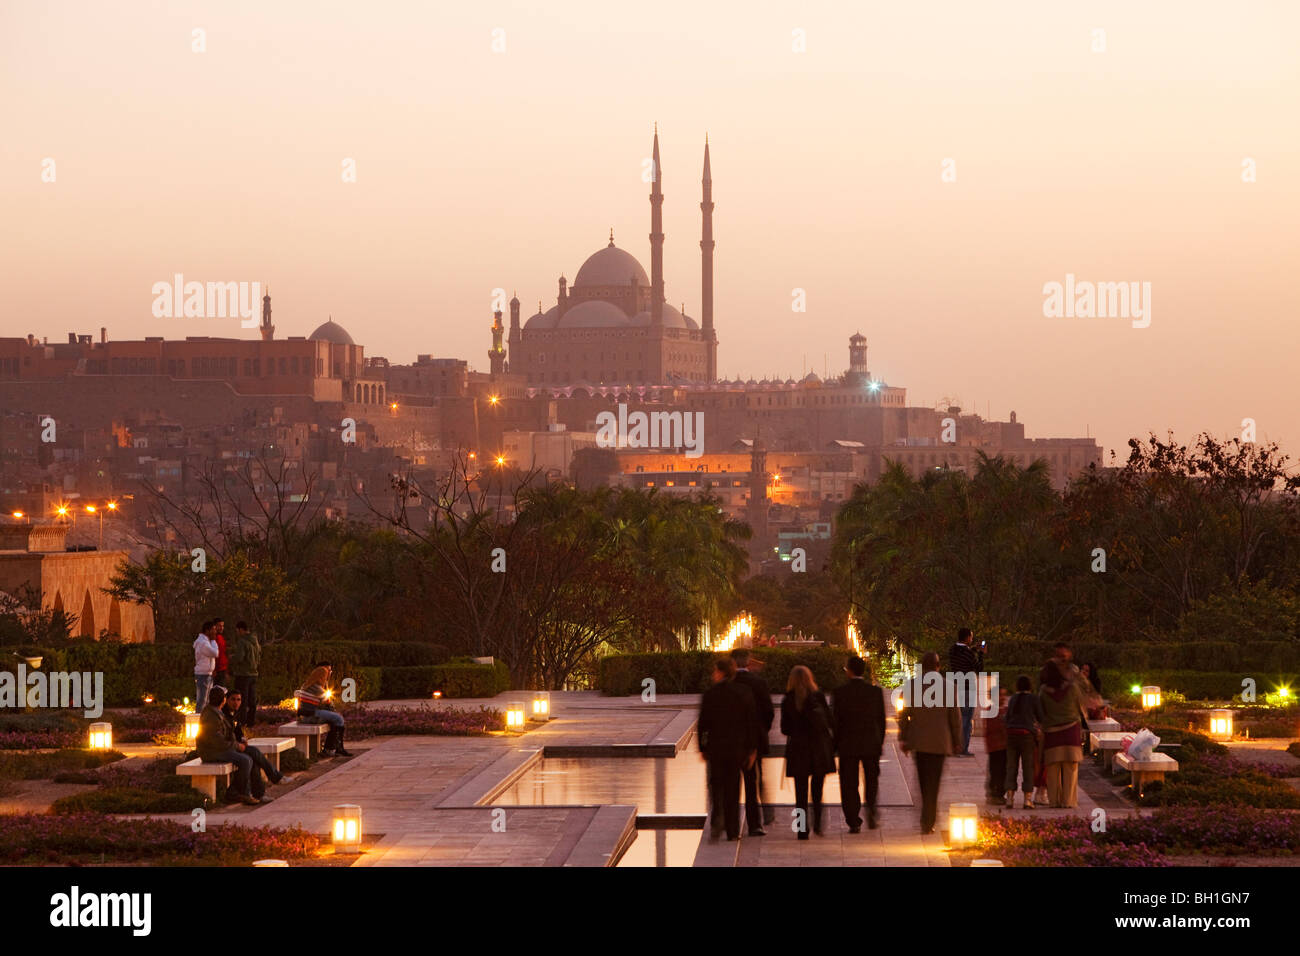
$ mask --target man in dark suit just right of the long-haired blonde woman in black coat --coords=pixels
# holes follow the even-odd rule
[[[866,778],[867,826],[880,826],[876,793],[880,788],[880,750],[885,741],[884,692],[866,679],[867,663],[850,657],[844,666],[849,683],[832,693],[831,732],[840,757],[840,804],[849,832],[862,830],[862,800],[858,797],[858,766]]]

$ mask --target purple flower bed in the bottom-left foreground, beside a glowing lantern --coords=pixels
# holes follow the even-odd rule
[[[0,865],[159,864],[244,866],[268,857],[315,856],[320,840],[296,827],[216,826],[194,832],[188,823],[120,821],[100,814],[0,816]]]

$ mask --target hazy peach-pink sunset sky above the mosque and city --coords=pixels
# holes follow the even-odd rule
[[[1249,416],[1300,457],[1297,36],[1294,0],[0,0],[0,336],[256,336],[155,319],[179,272],[486,371],[493,289],[549,308],[611,226],[649,271],[658,121],[693,316],[708,134],[724,377],[861,330],[911,405],[1108,451]],[[1150,282],[1150,326],[1044,317],[1066,273]]]

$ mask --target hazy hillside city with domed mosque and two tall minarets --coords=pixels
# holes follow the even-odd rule
[[[762,572],[794,546],[818,561],[836,509],[889,462],[919,476],[971,470],[979,453],[1022,466],[1043,459],[1058,489],[1101,464],[1093,438],[1027,438],[1015,412],[992,421],[957,406],[909,406],[905,388],[871,373],[861,332],[849,337],[840,375],[719,380],[708,147],[698,320],[666,297],[658,134],[653,156],[649,274],[611,233],[572,285],[559,277],[552,307],[538,303],[524,320],[515,295],[508,329],[506,310],[494,312],[488,372],[432,354],[410,364],[367,356],[333,319],[277,337],[269,293],[250,339],[118,341],[108,328],[53,342],[0,338],[0,509],[9,525],[60,525],[57,535],[10,528],[0,591],[40,589],[47,605],[81,615],[83,635],[152,639],[150,626],[124,624],[124,609],[95,593],[117,558],[95,563],[88,553],[166,546],[169,529],[147,499],[185,499],[205,481],[250,497],[311,498],[326,519],[358,522],[378,520],[365,502],[382,501],[393,475],[429,477],[458,457],[507,476],[707,490],[750,524],[751,571]],[[597,419],[619,405],[699,414],[702,454],[602,449]]]

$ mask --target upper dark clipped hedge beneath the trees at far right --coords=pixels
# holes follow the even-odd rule
[[[1008,667],[1032,667],[1035,674],[1053,654],[1053,641],[994,640],[989,641],[989,657]],[[1171,671],[1231,671],[1242,670],[1271,674],[1274,671],[1300,671],[1300,644],[1294,641],[1195,641],[1184,644],[1128,644],[1076,643],[1070,645],[1075,663],[1091,661],[1098,670],[1144,671],[1160,667]],[[1258,675],[1256,675],[1258,680]],[[1240,684],[1240,679],[1238,680]]]

